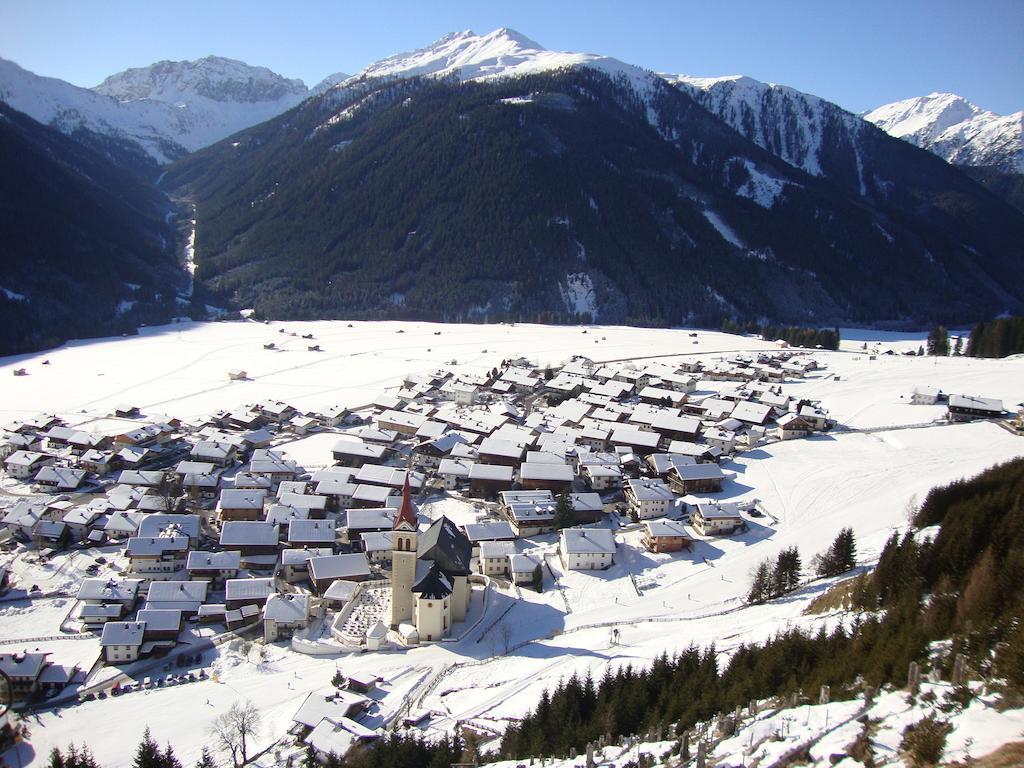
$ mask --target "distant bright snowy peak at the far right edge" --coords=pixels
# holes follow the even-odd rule
[[[955,165],[1024,173],[1024,112],[996,115],[955,93],[894,101],[864,119]]]

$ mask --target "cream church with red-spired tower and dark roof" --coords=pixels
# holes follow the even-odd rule
[[[409,475],[391,550],[391,628],[407,644],[447,637],[469,609],[473,547],[446,517],[420,532]]]

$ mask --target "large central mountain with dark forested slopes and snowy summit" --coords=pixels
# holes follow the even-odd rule
[[[197,206],[198,276],[263,316],[952,323],[1022,306],[1024,215],[958,170],[821,99],[740,97],[758,88],[737,81],[721,103],[767,108],[725,120],[694,87],[463,32],[165,183]]]

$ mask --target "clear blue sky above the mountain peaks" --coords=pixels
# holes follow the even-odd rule
[[[314,84],[441,35],[509,27],[658,72],[743,74],[853,112],[931,91],[1024,109],[1024,0],[0,0],[0,56],[92,86],[215,53]]]

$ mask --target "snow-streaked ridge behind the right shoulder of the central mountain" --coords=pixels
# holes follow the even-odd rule
[[[741,75],[662,77],[759,146],[815,176],[828,175],[828,148],[846,145],[855,157],[859,152],[864,121],[818,96]]]

